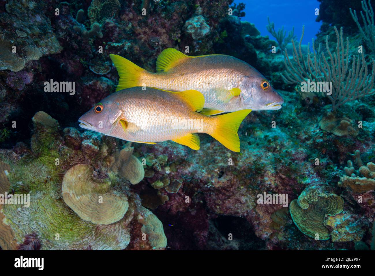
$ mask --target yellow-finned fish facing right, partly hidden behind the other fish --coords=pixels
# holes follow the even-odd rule
[[[278,110],[284,103],[260,72],[230,55],[189,56],[167,48],[157,57],[156,73],[120,55],[110,54],[110,57],[120,76],[116,91],[135,86],[198,90],[205,98],[202,110],[205,115],[244,109]]]

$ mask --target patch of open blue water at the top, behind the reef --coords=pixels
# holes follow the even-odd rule
[[[267,31],[267,17],[275,23],[276,31],[284,26],[284,30],[288,33],[294,26],[294,35],[298,40],[301,37],[302,26],[305,25],[303,44],[311,42],[321,26],[321,22],[315,21],[317,18],[315,9],[319,8],[317,0],[268,0],[266,1],[267,5],[264,5],[263,1],[255,0],[236,0],[234,3],[246,5],[245,10],[243,10],[245,17],[242,17],[241,20],[255,24],[262,36],[268,35],[271,39],[274,37]]]

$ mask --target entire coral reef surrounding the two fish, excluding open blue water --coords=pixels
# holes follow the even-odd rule
[[[374,250],[373,53],[349,12],[361,10],[360,1],[319,0],[314,53],[302,42],[286,44],[289,38],[286,52],[272,52],[279,41],[241,19],[245,4],[231,2],[1,2],[0,194],[30,195],[30,207],[0,204],[2,249]],[[360,16],[359,23],[365,27]],[[207,135],[193,151],[80,129],[80,115],[115,91],[110,53],[155,71],[169,47],[240,58],[285,104],[248,115],[238,154]],[[323,71],[331,70],[347,81],[331,96],[357,94],[338,98],[330,113],[326,92],[284,82],[285,58],[302,74],[299,83],[312,74],[326,80]],[[75,82],[74,95],[44,92],[50,80]],[[258,204],[264,192],[288,195],[288,207]]]

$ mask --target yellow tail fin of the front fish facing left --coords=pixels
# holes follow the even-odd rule
[[[250,109],[240,110],[224,115],[214,116],[217,119],[216,129],[210,134],[229,150],[240,152],[238,129],[242,120],[251,112]]]

